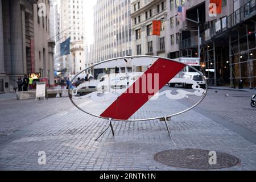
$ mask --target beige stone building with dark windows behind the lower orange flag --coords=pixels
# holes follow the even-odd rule
[[[131,2],[133,55],[167,57],[167,8],[164,0]],[[152,35],[152,20],[162,20],[160,36]]]

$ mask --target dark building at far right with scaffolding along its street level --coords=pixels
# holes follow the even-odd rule
[[[209,16],[209,0],[184,1],[187,18],[200,18],[200,58],[210,85],[256,86],[256,1],[222,0],[222,13]],[[186,21],[180,30],[180,56],[197,57],[197,24]],[[242,85],[243,84],[243,85]]]

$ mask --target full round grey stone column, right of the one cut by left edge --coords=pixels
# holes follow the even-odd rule
[[[10,0],[11,74],[23,75],[22,14],[20,3]]]

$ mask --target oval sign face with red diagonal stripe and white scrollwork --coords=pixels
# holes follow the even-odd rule
[[[199,59],[187,60],[193,67],[182,61],[156,56],[103,61],[73,78],[69,98],[81,111],[115,121],[172,117],[192,109],[207,94]],[[85,72],[93,77],[84,77]],[[179,101],[188,98],[193,99],[189,106],[181,106]]]

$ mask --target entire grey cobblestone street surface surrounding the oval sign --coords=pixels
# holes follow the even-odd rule
[[[69,98],[18,101],[14,94],[2,94],[0,170],[184,170],[158,163],[154,155],[185,148],[224,152],[241,160],[237,166],[221,170],[256,170],[256,109],[250,106],[252,95],[208,90],[199,106],[171,119],[173,140],[164,122],[114,121],[115,136],[108,130],[95,141],[108,122],[82,113]],[[188,97],[174,102],[179,109],[185,109],[193,100]],[[147,107],[140,114],[151,117],[154,107]],[[163,112],[170,109],[167,105],[158,107]],[[45,165],[38,163],[39,151],[46,153]]]

